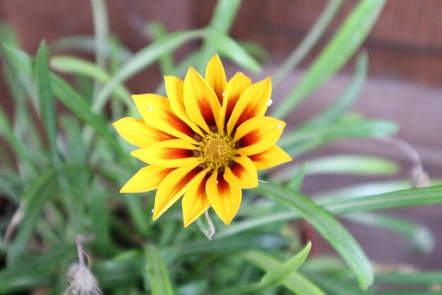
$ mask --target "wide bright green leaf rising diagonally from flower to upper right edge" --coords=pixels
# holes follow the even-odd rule
[[[272,117],[287,116],[301,100],[304,100],[326,79],[341,69],[369,34],[385,2],[385,0],[358,2],[333,39],[328,42],[298,85],[289,93],[285,102],[280,103],[275,109]]]

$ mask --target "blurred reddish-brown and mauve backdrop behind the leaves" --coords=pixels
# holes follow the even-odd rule
[[[321,42],[273,91],[273,100],[287,94],[296,85],[306,66],[330,39],[342,19],[357,1],[345,1],[328,28]],[[263,73],[266,76],[289,56],[313,25],[325,7],[325,0],[254,0],[243,1],[239,15],[232,27],[237,40],[256,42],[268,55],[263,55]],[[209,1],[158,1],[158,0],[108,0],[109,25],[122,44],[136,51],[152,38],[145,23],[158,21],[167,30],[200,28],[208,23],[215,6]],[[440,0],[390,0],[378,23],[364,43],[369,54],[369,79],[354,107],[366,117],[394,120],[401,126],[398,137],[414,146],[419,152],[425,170],[431,178],[442,178],[442,1]],[[68,35],[92,35],[92,13],[89,0],[1,0],[0,19],[13,26],[23,48],[35,54],[42,39],[49,45]],[[182,52],[198,46],[194,43]],[[72,53],[72,52],[70,52]],[[84,55],[84,54],[83,54]],[[92,58],[92,57],[91,57]],[[179,52],[177,54],[179,58]],[[352,77],[354,63],[350,62],[341,74],[325,83],[309,100],[305,100],[289,122],[296,125],[329,105],[345,88]],[[238,69],[229,66],[232,74]],[[155,90],[161,81],[159,71],[150,68],[129,81],[133,93]],[[1,82],[3,83],[3,79]],[[1,105],[10,104],[6,87],[0,84]],[[366,153],[386,156],[401,163],[400,175],[407,178],[412,163],[406,153],[390,142],[370,140],[337,141],[325,149],[307,154],[305,158],[318,155]],[[384,178],[385,179],[385,178]],[[306,179],[303,190],[315,195],[342,185],[374,182],[375,177],[315,175]],[[422,222],[435,232],[436,248],[442,247],[439,205],[414,209],[395,209],[391,214]],[[410,249],[394,233],[358,226],[349,221],[346,226],[360,241],[370,258],[375,261],[410,262],[412,265],[441,267],[442,252],[434,250],[431,255],[408,255]],[[315,235],[315,233],[309,233]],[[317,235],[316,235],[317,236]],[[328,251],[326,243],[316,251]]]

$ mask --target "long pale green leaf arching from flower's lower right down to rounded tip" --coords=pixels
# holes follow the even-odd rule
[[[352,235],[325,209],[275,183],[261,183],[256,190],[286,204],[314,226],[352,268],[362,289],[367,289],[373,283],[369,259]]]

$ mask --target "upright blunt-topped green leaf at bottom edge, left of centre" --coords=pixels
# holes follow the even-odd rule
[[[173,295],[172,284],[160,251],[154,245],[147,245],[144,247],[144,255],[146,260],[144,276],[150,285],[152,295]]]

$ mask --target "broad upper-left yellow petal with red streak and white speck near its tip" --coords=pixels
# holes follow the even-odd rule
[[[196,143],[193,139],[195,132],[174,114],[167,98],[152,93],[133,95],[132,98],[147,125],[174,137]]]

